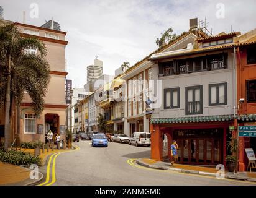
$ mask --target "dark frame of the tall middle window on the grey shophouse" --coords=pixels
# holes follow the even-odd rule
[[[200,111],[195,112],[195,106],[196,106],[196,101],[195,101],[195,90],[200,89]],[[185,87],[186,90],[186,115],[196,115],[196,114],[203,114],[203,85],[197,85],[197,86],[192,86],[192,87]],[[190,113],[188,112],[188,90],[193,90],[193,111]]]

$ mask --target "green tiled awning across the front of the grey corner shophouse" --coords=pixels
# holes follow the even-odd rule
[[[214,121],[231,121],[234,119],[233,115],[220,115],[220,116],[193,116],[182,118],[152,118],[151,124],[161,123],[199,123],[199,122],[214,122]]]

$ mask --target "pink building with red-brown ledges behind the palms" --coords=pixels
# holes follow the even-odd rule
[[[20,108],[19,134],[22,142],[40,140],[45,142],[45,134],[49,129],[53,133],[59,133],[60,139],[65,140],[66,101],[65,79],[68,74],[65,71],[65,41],[66,32],[36,27],[34,25],[15,23],[22,32],[22,37],[31,35],[39,38],[47,47],[47,61],[50,64],[50,84],[45,97],[45,106],[39,118],[36,118],[31,106],[31,99],[27,93],[24,95]],[[37,53],[34,49],[28,49],[29,53]],[[14,121],[15,123],[15,121]],[[0,124],[4,120],[0,119]],[[11,123],[12,124],[12,123]],[[15,124],[13,124],[15,126]],[[16,131],[16,130],[13,130]],[[11,141],[14,134],[11,134]]]

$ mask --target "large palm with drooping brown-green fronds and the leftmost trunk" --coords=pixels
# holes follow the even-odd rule
[[[35,49],[30,54],[28,49]],[[32,99],[35,115],[42,113],[50,82],[50,67],[45,59],[47,49],[36,37],[21,37],[15,24],[0,27],[0,108],[5,111],[4,150],[11,134],[11,105],[20,106],[25,91]]]

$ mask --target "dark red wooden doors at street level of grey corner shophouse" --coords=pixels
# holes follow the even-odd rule
[[[176,129],[179,163],[217,165],[223,161],[223,129]]]

